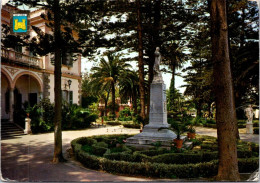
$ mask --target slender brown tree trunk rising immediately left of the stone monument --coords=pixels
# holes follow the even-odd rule
[[[141,20],[141,0],[136,1],[137,5],[137,33],[138,33],[138,67],[139,67],[139,85],[140,85],[140,116],[145,119],[145,88],[144,88],[144,61],[143,61],[143,36]]]

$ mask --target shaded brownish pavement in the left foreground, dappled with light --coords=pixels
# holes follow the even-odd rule
[[[63,147],[65,154],[66,144]],[[1,144],[1,171],[4,179],[15,181],[147,181],[149,179],[116,176],[85,169],[72,163],[52,163],[53,142],[21,140]]]

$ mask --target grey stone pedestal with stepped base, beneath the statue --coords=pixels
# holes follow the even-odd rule
[[[161,142],[163,146],[170,146],[177,135],[173,131],[165,129],[169,126],[167,123],[166,87],[161,77],[155,78],[150,90],[149,124],[144,126],[142,133],[128,138],[126,145],[149,146],[152,143]]]

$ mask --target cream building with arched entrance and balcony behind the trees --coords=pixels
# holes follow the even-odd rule
[[[5,5],[2,7],[1,24],[10,25],[10,15],[17,8]],[[45,33],[51,33],[40,17],[46,10],[30,13],[30,24]],[[30,35],[36,33],[31,30]],[[22,108],[24,102],[33,106],[41,99],[54,102],[54,65],[52,55],[32,56],[29,49],[1,48],[1,119],[13,121],[13,112]],[[76,58],[76,59],[75,59]],[[62,96],[70,104],[81,103],[81,55],[74,56],[74,62],[62,64]]]

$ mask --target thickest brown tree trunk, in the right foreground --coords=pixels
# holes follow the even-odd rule
[[[225,0],[209,0],[219,149],[217,180],[239,181]]]

